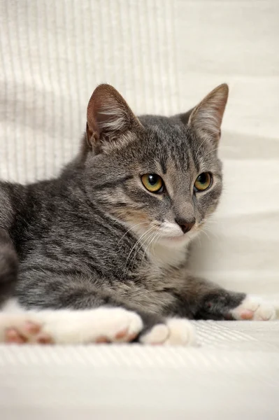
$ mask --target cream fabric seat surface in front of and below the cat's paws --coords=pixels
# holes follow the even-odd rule
[[[278,420],[278,321],[196,326],[199,348],[0,346],[1,420]]]

